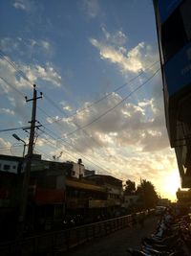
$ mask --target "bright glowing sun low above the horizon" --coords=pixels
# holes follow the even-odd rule
[[[180,175],[178,170],[172,170],[169,174],[165,175],[160,191],[162,198],[169,198],[172,201],[177,200],[176,192],[180,188]]]

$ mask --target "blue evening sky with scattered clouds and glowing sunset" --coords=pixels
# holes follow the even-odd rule
[[[36,84],[35,153],[175,200],[152,1],[2,0],[0,24],[0,153],[22,155]]]

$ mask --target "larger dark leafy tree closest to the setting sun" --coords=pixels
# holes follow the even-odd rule
[[[146,179],[141,179],[138,185],[137,195],[143,208],[152,208],[156,206],[159,196],[155,190],[155,186]]]

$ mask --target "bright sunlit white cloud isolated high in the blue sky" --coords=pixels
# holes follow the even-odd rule
[[[146,67],[157,59],[157,53],[150,45],[145,42],[139,42],[137,46],[127,51],[124,44],[127,36],[121,31],[111,35],[102,28],[104,39],[97,40],[90,38],[90,42],[99,51],[100,58],[117,64],[122,73],[145,71]]]

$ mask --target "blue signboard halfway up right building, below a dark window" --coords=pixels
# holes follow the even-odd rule
[[[164,64],[164,73],[169,97],[191,84],[191,43]]]

